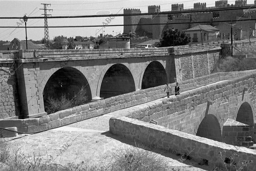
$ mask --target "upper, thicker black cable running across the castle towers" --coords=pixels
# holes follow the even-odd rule
[[[107,14],[107,15],[84,15],[84,16],[42,16],[42,17],[28,17],[29,18],[94,18],[94,17],[111,17],[111,16],[140,16],[140,15],[156,15],[156,14],[181,14],[181,13],[195,13],[195,12],[215,12],[215,11],[228,11],[237,9],[250,9],[256,8],[256,5],[246,7],[225,7],[217,9],[200,9],[200,10],[185,10],[185,11],[170,11],[170,12],[152,12],[152,13],[136,13],[136,14]],[[21,19],[22,17],[0,17],[0,19]]]

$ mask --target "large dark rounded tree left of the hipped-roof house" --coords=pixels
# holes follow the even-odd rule
[[[174,31],[171,29],[166,29],[163,33],[163,37],[161,37],[159,40],[160,43],[158,44],[158,47],[173,46],[173,42],[175,46],[186,45],[191,42],[191,38],[187,37],[185,32],[180,32],[177,29]]]

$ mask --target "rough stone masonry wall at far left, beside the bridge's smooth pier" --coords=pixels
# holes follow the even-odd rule
[[[17,78],[15,69],[17,51],[1,51],[0,53],[0,119],[18,118],[19,103]]]

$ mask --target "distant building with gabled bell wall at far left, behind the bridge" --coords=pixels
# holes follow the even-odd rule
[[[0,46],[0,51],[17,51],[19,49],[26,49],[26,41],[14,38],[11,42]],[[28,49],[44,49],[44,46],[28,41]]]

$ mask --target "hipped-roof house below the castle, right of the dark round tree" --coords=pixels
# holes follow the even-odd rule
[[[191,37],[192,42],[198,43],[215,40],[220,32],[218,28],[211,25],[196,25],[183,31],[186,33],[187,37]]]

